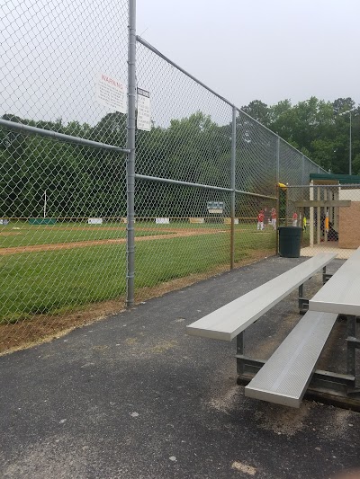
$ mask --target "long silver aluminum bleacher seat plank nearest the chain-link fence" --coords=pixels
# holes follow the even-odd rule
[[[253,289],[242,297],[189,324],[186,332],[224,341],[231,341],[261,315],[301,286],[316,272],[326,267],[336,253],[320,253],[286,271],[275,279]]]

